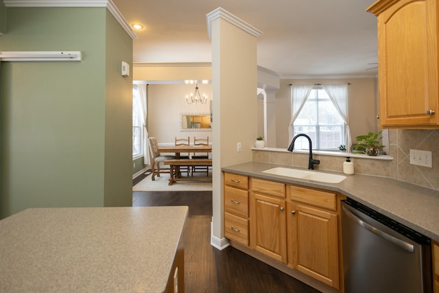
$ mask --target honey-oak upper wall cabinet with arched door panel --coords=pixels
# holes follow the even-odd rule
[[[379,0],[381,128],[439,128],[438,1]]]

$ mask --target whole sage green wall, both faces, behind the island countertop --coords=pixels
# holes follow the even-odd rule
[[[132,40],[106,8],[8,8],[6,26],[2,51],[82,51],[82,61],[1,62],[0,218],[130,206],[132,79],[120,63],[132,62]]]

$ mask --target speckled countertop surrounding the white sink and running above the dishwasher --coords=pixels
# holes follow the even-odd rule
[[[346,175],[347,178],[341,183],[332,184],[262,173],[263,170],[272,167],[289,166],[248,162],[222,167],[222,171],[337,191],[405,224],[419,233],[423,233],[431,239],[439,241],[439,191],[404,183],[392,178],[359,174]],[[344,175],[337,172],[317,170],[316,172]]]

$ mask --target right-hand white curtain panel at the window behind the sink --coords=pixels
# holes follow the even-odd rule
[[[344,119],[344,141],[346,150],[351,152],[352,141],[348,115],[348,84],[324,84],[323,89],[327,92],[329,99],[331,99],[338,113]]]

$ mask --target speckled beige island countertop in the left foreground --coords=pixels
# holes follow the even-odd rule
[[[0,221],[0,292],[164,292],[188,207],[27,209]]]

